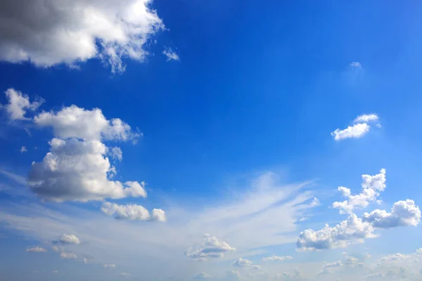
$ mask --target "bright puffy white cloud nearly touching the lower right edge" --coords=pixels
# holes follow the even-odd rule
[[[365,213],[364,221],[372,223],[375,228],[395,228],[397,226],[417,226],[421,222],[421,210],[414,200],[395,202],[390,213],[376,209]]]

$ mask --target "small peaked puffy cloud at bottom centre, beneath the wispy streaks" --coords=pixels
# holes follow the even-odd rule
[[[219,240],[215,236],[205,234],[203,242],[197,249],[189,248],[185,251],[185,255],[197,261],[206,261],[207,258],[221,258],[227,251],[235,251],[226,242]]]

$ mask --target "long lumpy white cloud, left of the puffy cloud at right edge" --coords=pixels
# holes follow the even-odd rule
[[[373,234],[371,223],[362,221],[355,214],[334,227],[326,225],[323,229],[315,231],[308,229],[300,233],[296,247],[302,251],[322,250],[346,247],[347,244],[376,237]]]

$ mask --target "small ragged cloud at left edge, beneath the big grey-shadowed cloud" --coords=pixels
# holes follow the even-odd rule
[[[6,98],[8,99],[8,103],[6,105],[3,105],[3,107],[5,108],[8,117],[11,120],[29,119],[25,117],[26,112],[28,110],[35,111],[42,103],[44,103],[44,100],[42,100],[41,98],[31,103],[29,96],[20,91],[16,91],[13,88],[7,89],[5,93]]]

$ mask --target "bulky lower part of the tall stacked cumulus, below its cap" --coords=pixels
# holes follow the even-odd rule
[[[32,164],[28,176],[30,188],[40,197],[56,202],[146,197],[143,183],[108,179],[114,170],[100,141],[53,138],[49,144],[50,152]]]

